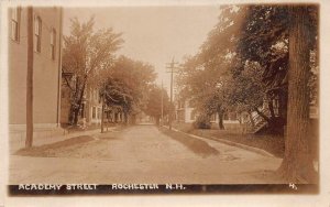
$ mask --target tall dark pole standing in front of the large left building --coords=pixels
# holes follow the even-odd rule
[[[33,143],[33,8],[28,7],[28,72],[26,72],[26,139],[25,148]]]

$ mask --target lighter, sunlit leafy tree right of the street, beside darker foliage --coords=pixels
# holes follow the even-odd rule
[[[210,117],[218,113],[219,129],[224,129],[223,115],[229,105],[230,64],[235,56],[235,45],[245,7],[220,8],[217,25],[209,32],[200,51],[186,59],[179,74],[180,96],[188,99],[199,113]]]

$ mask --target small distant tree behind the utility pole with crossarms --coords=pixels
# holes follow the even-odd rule
[[[156,124],[160,124],[162,116],[162,98],[163,98],[163,115],[166,116],[169,112],[169,98],[167,91],[155,85],[150,87],[147,92],[146,108],[144,112],[156,120]]]

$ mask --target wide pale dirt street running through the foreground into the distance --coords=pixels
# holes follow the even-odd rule
[[[196,153],[147,124],[81,135],[12,154],[9,184],[278,183],[267,174],[280,159],[202,141],[210,153]]]

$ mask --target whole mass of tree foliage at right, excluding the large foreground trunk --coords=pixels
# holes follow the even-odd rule
[[[308,13],[306,41],[312,72],[318,69],[312,61],[318,58],[316,7],[309,7]],[[255,111],[268,122],[272,133],[283,133],[273,130],[286,124],[288,24],[288,6],[221,7],[219,22],[199,53],[183,65],[184,97],[205,113]],[[317,76],[309,76],[310,97],[316,99]],[[266,111],[261,110],[264,106]]]

